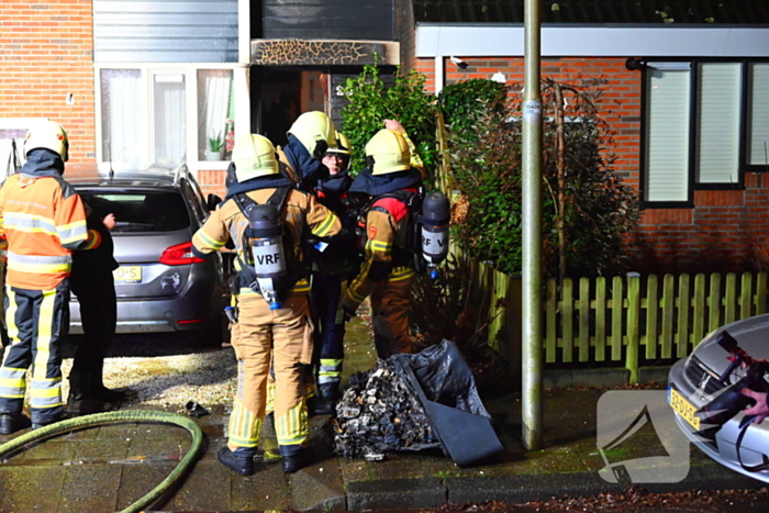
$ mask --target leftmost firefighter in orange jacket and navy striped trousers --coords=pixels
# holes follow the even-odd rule
[[[69,325],[71,253],[98,247],[82,200],[62,175],[64,127],[42,121],[26,134],[26,164],[0,190],[0,238],[8,242],[5,312],[11,345],[0,367],[0,434],[30,424],[22,415],[32,365],[32,426],[62,419],[62,346]]]

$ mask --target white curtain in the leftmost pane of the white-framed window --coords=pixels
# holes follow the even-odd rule
[[[113,167],[142,167],[144,143],[140,134],[145,119],[138,93],[141,78],[138,69],[101,70],[101,155]]]

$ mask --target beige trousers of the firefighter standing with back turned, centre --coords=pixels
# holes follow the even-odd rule
[[[312,322],[307,294],[288,298],[269,310],[258,294],[238,297],[233,348],[237,355],[237,395],[230,417],[227,446],[256,449],[265,416],[270,358],[275,365],[275,430],[279,445],[309,436],[301,365],[312,357]]]

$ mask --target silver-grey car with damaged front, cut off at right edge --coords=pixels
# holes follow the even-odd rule
[[[769,470],[751,472],[739,464],[736,442],[740,432],[739,423],[745,419],[742,411],[720,430],[711,430],[715,433],[709,433],[709,424],[701,422],[703,414],[700,413],[700,409],[729,391],[745,376],[745,369],[737,368],[726,380],[729,384],[720,382],[721,375],[731,363],[729,353],[717,344],[724,331],[732,335],[750,357],[769,359],[769,314],[727,324],[705,336],[688,358],[672,366],[668,376],[668,402],[677,413],[676,422],[679,427],[705,454],[732,470],[769,482]],[[727,403],[732,404],[733,401]],[[769,458],[765,455],[769,455],[769,420],[747,428],[739,451],[746,466],[764,464],[765,458]]]

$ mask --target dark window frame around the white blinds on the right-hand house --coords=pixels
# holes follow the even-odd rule
[[[698,144],[696,137],[699,137],[699,116],[698,107],[700,101],[700,90],[699,90],[699,69],[700,65],[706,64],[739,64],[742,66],[740,86],[739,86],[739,145],[738,145],[738,180],[736,182],[699,182],[698,181]],[[742,190],[745,187],[745,172],[758,172],[766,169],[761,169],[760,166],[750,165],[749,156],[747,153],[747,137],[750,127],[747,123],[748,118],[748,105],[749,99],[747,98],[747,82],[750,79],[750,65],[751,64],[767,64],[765,59],[750,59],[750,58],[728,58],[728,59],[713,59],[713,58],[684,58],[684,59],[669,59],[669,60],[649,60],[647,62],[647,69],[644,71],[644,82],[643,82],[643,109],[642,109],[642,123],[644,130],[642,131],[642,187],[643,187],[643,203],[649,208],[691,208],[693,207],[694,191],[695,190]],[[688,178],[687,198],[682,200],[655,200],[649,198],[648,187],[646,186],[649,181],[649,161],[648,161],[648,144],[649,135],[647,133],[649,125],[649,76],[654,68],[657,69],[682,69],[682,66],[690,66],[690,99],[688,105],[688,123],[689,123],[689,144],[682,150],[687,152],[688,155],[688,169],[686,169],[686,175]],[[649,69],[651,68],[651,69]]]

